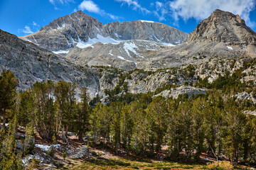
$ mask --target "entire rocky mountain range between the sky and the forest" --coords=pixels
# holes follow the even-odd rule
[[[124,74],[129,74],[124,79],[129,92],[154,92],[166,84],[193,85],[198,77],[212,82],[254,57],[256,33],[240,16],[220,10],[189,35],[153,21],[103,25],[82,11],[21,38],[0,31],[0,69],[14,72],[20,89],[36,81],[65,80],[87,87],[91,98],[122,86],[119,80]],[[191,65],[193,70],[188,69]],[[241,81],[255,82],[254,67],[250,75],[248,70],[244,73]],[[202,89],[180,88],[175,93],[181,91]],[[174,95],[168,93],[162,95]]]

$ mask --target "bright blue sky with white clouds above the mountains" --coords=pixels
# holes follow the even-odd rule
[[[101,23],[149,20],[190,33],[216,8],[239,14],[256,31],[256,0],[0,0],[0,29],[17,36],[40,30],[74,11]]]

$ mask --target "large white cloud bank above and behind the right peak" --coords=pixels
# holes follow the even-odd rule
[[[176,23],[181,17],[184,21],[189,18],[202,20],[208,18],[216,8],[223,11],[230,11],[239,14],[247,22],[248,26],[253,26],[250,21],[250,11],[255,8],[255,0],[174,0],[169,1],[171,15]]]

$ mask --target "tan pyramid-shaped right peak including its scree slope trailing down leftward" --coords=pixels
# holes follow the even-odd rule
[[[256,33],[240,16],[215,10],[188,35],[186,42],[152,52],[151,60],[138,68],[159,69],[182,64],[201,64],[213,57],[256,57]],[[159,62],[159,64],[155,64]]]

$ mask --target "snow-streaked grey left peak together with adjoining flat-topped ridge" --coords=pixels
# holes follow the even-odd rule
[[[164,45],[176,45],[186,40],[188,33],[154,21],[132,21],[103,25],[96,18],[77,11],[60,17],[40,31],[21,37],[51,51],[71,47],[87,47],[95,42],[118,43],[124,40],[151,40]]]

